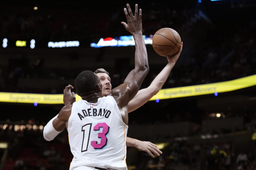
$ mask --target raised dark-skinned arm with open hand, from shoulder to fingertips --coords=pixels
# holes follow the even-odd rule
[[[141,84],[149,72],[149,65],[147,59],[147,50],[144,39],[142,37],[142,22],[141,16],[142,11],[139,9],[138,15],[138,5],[135,5],[135,15],[131,11],[129,4],[127,4],[127,9],[124,8],[124,12],[127,18],[128,24],[122,22],[126,30],[129,31],[135,41],[135,68],[130,71],[127,75],[125,81],[120,86],[114,88],[109,95],[113,96],[119,110],[121,112],[123,121],[128,124],[128,103],[137,94]]]

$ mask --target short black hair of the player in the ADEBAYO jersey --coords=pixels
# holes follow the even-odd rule
[[[75,78],[75,89],[79,96],[95,91],[98,85],[98,76],[92,71],[86,70]]]

